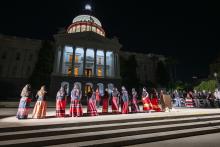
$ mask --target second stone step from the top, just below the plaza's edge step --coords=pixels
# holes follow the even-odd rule
[[[153,121],[141,121],[141,122],[128,122],[128,123],[113,123],[113,124],[101,124],[101,125],[92,125],[92,126],[77,126],[77,127],[65,127],[65,128],[56,128],[45,129],[42,127],[38,130],[28,130],[28,131],[14,131],[0,133],[0,141],[2,140],[12,140],[12,139],[22,139],[27,135],[28,137],[32,136],[56,136],[63,134],[71,134],[72,132],[93,132],[93,131],[102,131],[102,130],[116,130],[116,129],[126,129],[126,128],[137,128],[144,126],[161,126],[169,124],[183,124],[183,123],[195,123],[195,122],[206,122],[220,120],[220,116],[205,116],[200,118],[181,118],[181,119],[168,119],[168,120],[153,120]],[[13,132],[12,132],[13,131]]]

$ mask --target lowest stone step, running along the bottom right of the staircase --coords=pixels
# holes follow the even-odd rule
[[[152,134],[142,134],[142,135],[133,135],[133,136],[126,136],[126,137],[118,137],[118,138],[111,138],[111,139],[99,139],[99,140],[92,140],[92,141],[83,141],[83,142],[76,142],[76,143],[68,143],[68,144],[59,144],[59,145],[52,145],[50,147],[67,147],[67,146],[74,146],[74,147],[121,147],[121,146],[128,146],[128,145],[138,145],[143,143],[150,143],[156,141],[163,141],[169,139],[176,139],[176,138],[183,138],[183,137],[190,137],[196,135],[204,135],[204,134],[211,134],[211,133],[219,133],[220,126],[215,127],[205,127],[205,128],[196,128],[196,129],[187,129],[187,130],[177,130],[177,131],[169,131],[169,132],[160,132],[160,133],[152,133]]]

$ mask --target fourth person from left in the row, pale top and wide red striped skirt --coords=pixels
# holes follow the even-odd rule
[[[70,116],[83,116],[83,109],[81,104],[82,91],[78,84],[75,84],[71,91]]]

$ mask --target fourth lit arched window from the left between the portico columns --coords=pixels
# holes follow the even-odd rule
[[[104,77],[104,52],[97,50],[96,53],[96,76]]]

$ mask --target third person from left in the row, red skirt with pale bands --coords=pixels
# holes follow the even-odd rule
[[[65,117],[66,96],[65,88],[61,86],[56,96],[56,117]]]

